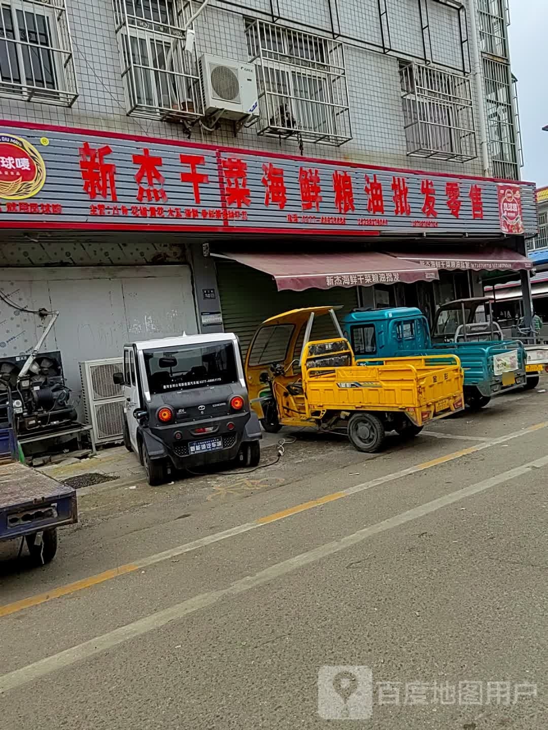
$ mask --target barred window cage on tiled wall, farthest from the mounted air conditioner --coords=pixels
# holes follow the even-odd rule
[[[407,154],[467,162],[477,157],[470,78],[400,62]]]

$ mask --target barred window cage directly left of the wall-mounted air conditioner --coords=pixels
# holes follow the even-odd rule
[[[196,48],[186,45],[190,3],[113,0],[113,7],[128,115],[170,121],[201,117]]]

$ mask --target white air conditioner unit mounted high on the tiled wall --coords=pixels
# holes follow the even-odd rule
[[[199,59],[199,74],[206,115],[222,111],[222,117],[240,120],[259,114],[254,64],[206,53]]]

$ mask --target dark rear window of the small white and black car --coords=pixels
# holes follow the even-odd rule
[[[143,356],[151,393],[189,391],[237,381],[232,342],[143,350]],[[176,364],[162,367],[162,358],[174,358]]]

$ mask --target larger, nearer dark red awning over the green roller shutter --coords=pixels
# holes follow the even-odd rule
[[[370,286],[438,279],[433,266],[386,253],[225,253],[227,258],[274,277],[278,291]]]

